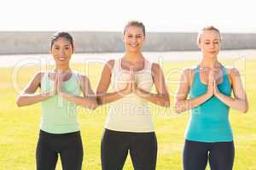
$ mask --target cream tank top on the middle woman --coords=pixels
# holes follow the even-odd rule
[[[135,79],[138,88],[150,92],[153,86],[151,74],[152,63],[144,59],[144,68],[135,71]],[[130,80],[130,71],[121,67],[121,59],[115,59],[110,89],[112,92],[122,90]],[[154,132],[153,116],[148,101],[128,94],[110,104],[105,128],[119,132],[147,133]]]

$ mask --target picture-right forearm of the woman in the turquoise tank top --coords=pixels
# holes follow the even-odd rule
[[[237,111],[241,112],[247,112],[248,110],[248,104],[247,99],[236,99],[231,98],[230,96],[217,93],[216,97],[221,100],[225,105],[228,105],[230,108],[235,109]]]

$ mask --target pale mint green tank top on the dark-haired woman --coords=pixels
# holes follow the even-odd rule
[[[68,94],[79,95],[78,72],[73,71],[72,77],[63,82],[63,89]],[[49,92],[54,89],[54,81],[49,78],[49,73],[45,72],[41,80],[41,92]],[[41,124],[40,129],[48,133],[72,133],[79,131],[77,121],[76,104],[55,95],[41,102]]]

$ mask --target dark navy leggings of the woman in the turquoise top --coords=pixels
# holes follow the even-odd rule
[[[185,141],[183,170],[205,170],[207,161],[211,170],[232,170],[235,156],[233,142]]]

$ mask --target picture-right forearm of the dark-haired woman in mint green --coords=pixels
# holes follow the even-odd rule
[[[73,94],[67,94],[62,92],[61,97],[63,99],[67,99],[70,102],[75,103],[76,105],[82,105],[84,107],[90,108],[90,109],[96,109],[96,97],[91,96],[91,97],[81,97],[81,96],[76,96]]]

